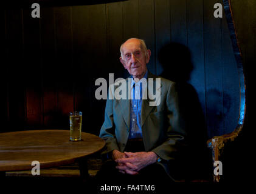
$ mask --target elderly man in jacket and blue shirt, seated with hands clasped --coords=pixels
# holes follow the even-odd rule
[[[106,102],[100,137],[106,141],[103,154],[108,160],[97,177],[124,184],[135,179],[152,183],[175,180],[187,134],[175,82],[148,72],[151,52],[142,39],[128,39],[121,45],[120,53],[120,62],[131,75],[131,82],[126,79],[130,84],[127,88],[135,98],[114,98]],[[147,92],[143,85],[147,85],[148,90],[156,88],[147,84],[150,78],[154,84],[157,78],[161,80],[161,99],[155,106],[149,105],[149,98],[142,99]]]

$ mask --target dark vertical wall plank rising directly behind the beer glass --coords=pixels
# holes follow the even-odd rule
[[[89,66],[89,13],[87,6],[72,7],[72,31],[73,31],[73,51],[74,51],[74,68],[75,68],[75,84],[74,84],[74,101],[75,110],[83,112],[83,121],[86,121],[86,106],[90,101],[89,92],[89,75],[91,69]],[[81,22],[82,21],[82,22]]]

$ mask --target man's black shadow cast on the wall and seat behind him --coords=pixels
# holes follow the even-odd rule
[[[207,127],[198,94],[187,81],[193,70],[190,50],[185,45],[171,42],[159,50],[158,59],[163,67],[160,76],[177,84],[182,118],[188,129],[189,149],[184,161],[185,176],[191,179],[209,179],[212,174],[210,150],[207,149]]]

